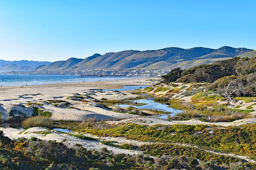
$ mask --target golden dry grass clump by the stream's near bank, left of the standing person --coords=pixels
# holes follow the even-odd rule
[[[183,119],[190,119],[190,118],[197,118],[199,116],[199,111],[197,110],[183,110],[180,113],[177,113],[175,116],[170,117],[168,115],[168,120],[183,120]]]

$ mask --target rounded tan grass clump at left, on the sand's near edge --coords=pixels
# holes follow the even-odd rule
[[[32,116],[22,121],[21,125],[23,128],[31,128],[31,127],[47,127],[52,128],[53,127],[53,120],[48,119],[43,116]]]

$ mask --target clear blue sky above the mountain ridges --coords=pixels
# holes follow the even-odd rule
[[[227,45],[256,49],[255,0],[1,0],[0,59]]]

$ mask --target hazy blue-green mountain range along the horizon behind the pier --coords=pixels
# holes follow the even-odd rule
[[[109,52],[104,55],[94,54],[85,59],[69,58],[63,61],[5,61],[0,60],[0,72],[41,71],[41,70],[85,70],[85,69],[163,69],[176,67],[189,68],[209,64],[230,57],[254,57],[256,50],[223,46],[219,49],[194,47],[182,49],[168,47],[160,50],[126,50]]]

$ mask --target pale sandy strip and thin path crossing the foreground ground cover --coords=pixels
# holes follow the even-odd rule
[[[36,137],[42,140],[55,140],[57,142],[63,142],[65,143],[65,145],[69,146],[69,147],[73,147],[76,143],[79,143],[80,145],[82,145],[83,147],[87,148],[87,149],[95,149],[95,150],[100,150],[104,147],[106,147],[108,150],[112,150],[113,153],[118,154],[118,153],[123,153],[123,154],[142,154],[141,151],[135,151],[135,150],[126,150],[126,149],[120,149],[120,148],[116,148],[116,147],[112,147],[112,146],[108,146],[108,145],[104,145],[102,144],[100,141],[117,141],[118,145],[122,145],[124,143],[130,143],[136,146],[141,146],[141,145],[150,145],[153,143],[162,143],[162,142],[143,142],[143,141],[136,141],[136,140],[129,140],[126,139],[125,137],[105,137],[105,136],[95,136],[95,135],[90,135],[90,134],[83,134],[85,136],[89,136],[89,137],[93,137],[96,139],[99,139],[100,141],[90,141],[90,140],[83,140],[83,139],[79,139],[76,138],[75,136],[71,136],[68,134],[63,134],[57,131],[50,131],[46,128],[42,128],[42,127],[33,127],[33,128],[29,128],[27,130],[18,130],[18,129],[14,129],[14,128],[0,128],[1,131],[4,132],[4,135],[7,136],[8,138],[12,139],[12,140],[17,140],[18,138],[31,138],[31,137]],[[38,134],[38,133],[34,133],[34,132],[43,132],[43,131],[48,131],[50,132],[49,134],[45,135],[45,134]],[[63,141],[64,140],[64,141]],[[117,143],[115,143],[117,144]],[[236,154],[231,154],[231,153],[221,153],[221,152],[217,152],[217,151],[212,151],[212,150],[206,150],[206,149],[202,149],[199,146],[195,146],[195,145],[189,145],[189,144],[183,144],[183,143],[170,143],[173,145],[180,145],[180,146],[187,146],[187,147],[194,147],[203,151],[207,151],[213,154],[217,154],[217,155],[225,155],[225,156],[232,156],[232,157],[236,157],[236,158],[240,158],[242,160],[248,161],[248,162],[252,162],[252,163],[256,163],[255,160],[251,160],[249,159],[247,156],[241,156],[241,155],[236,155]]]

